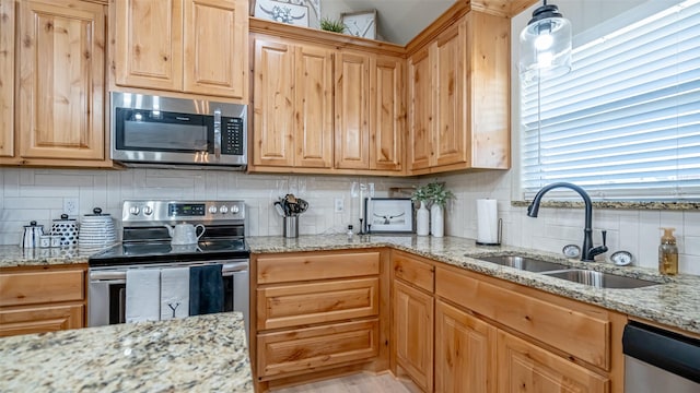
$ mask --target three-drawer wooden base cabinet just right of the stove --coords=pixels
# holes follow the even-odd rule
[[[386,369],[386,251],[254,254],[250,352],[259,390]]]

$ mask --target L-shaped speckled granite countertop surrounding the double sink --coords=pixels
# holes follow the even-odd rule
[[[653,270],[633,266],[616,266],[610,263],[591,263],[567,260],[561,254],[521,249],[515,247],[482,247],[474,240],[456,237],[418,236],[355,236],[352,241],[342,235],[301,236],[296,239],[282,237],[246,238],[255,253],[320,251],[370,247],[393,247],[451,265],[483,273],[561,295],[583,302],[602,306],[632,317],[656,321],[686,331],[700,333],[700,276],[661,276]],[[480,261],[479,257],[494,254],[518,254],[552,262],[584,267],[635,278],[663,282],[635,289],[602,289],[565,279],[530,273],[509,266]]]

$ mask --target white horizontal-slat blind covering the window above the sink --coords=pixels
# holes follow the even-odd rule
[[[700,0],[665,3],[521,86],[525,199],[569,181],[597,200],[700,200]]]

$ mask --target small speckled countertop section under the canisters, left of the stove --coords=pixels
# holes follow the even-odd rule
[[[78,247],[23,249],[18,246],[0,246],[0,267],[86,264],[88,258],[95,252]]]

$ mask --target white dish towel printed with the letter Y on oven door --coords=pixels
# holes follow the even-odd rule
[[[189,267],[161,270],[161,321],[189,315]]]

